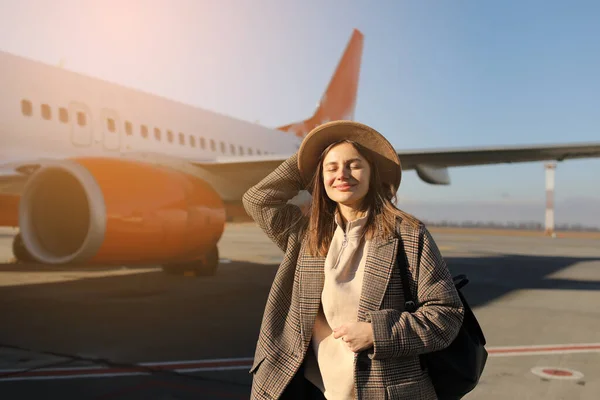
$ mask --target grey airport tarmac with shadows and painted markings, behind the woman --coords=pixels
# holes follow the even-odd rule
[[[475,399],[600,398],[600,239],[432,229],[487,339]],[[215,277],[14,264],[0,231],[0,398],[247,399],[281,252],[228,224]],[[3,262],[4,261],[4,262]]]

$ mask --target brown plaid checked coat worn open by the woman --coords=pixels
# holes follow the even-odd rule
[[[300,208],[288,203],[302,179],[297,154],[243,196],[248,214],[284,252],[264,311],[251,399],[278,399],[309,349],[321,301],[325,257],[304,249]],[[298,223],[300,221],[300,223]],[[396,265],[400,236],[418,310],[404,311]],[[374,238],[368,249],[358,321],[373,326],[374,346],[355,355],[357,399],[436,399],[419,355],[448,346],[458,334],[463,308],[452,277],[427,229],[399,221],[398,235]]]

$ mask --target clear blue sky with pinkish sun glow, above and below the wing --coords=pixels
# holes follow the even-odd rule
[[[356,119],[398,149],[600,141],[593,1],[19,1],[0,50],[267,126],[308,117],[353,28]],[[414,201],[539,203],[543,163],[458,168]],[[600,204],[600,160],[569,161],[556,199]]]

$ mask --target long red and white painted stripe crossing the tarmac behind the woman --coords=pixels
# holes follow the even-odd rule
[[[496,346],[486,348],[489,357],[515,357],[535,355],[558,355],[573,353],[600,353],[600,343],[532,345],[532,346]],[[27,369],[0,369],[0,382],[24,380],[52,380],[77,378],[111,378],[121,376],[149,375],[145,370],[150,367],[158,371],[179,373],[215,372],[232,370],[249,370],[252,357],[219,358],[210,360],[166,361],[140,363],[138,367],[109,368],[99,366],[73,368],[40,368],[33,371]],[[3,375],[9,376],[2,377]]]

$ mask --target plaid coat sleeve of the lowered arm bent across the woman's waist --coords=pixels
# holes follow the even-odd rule
[[[415,356],[442,350],[458,335],[464,309],[452,276],[429,231],[421,228],[417,297],[410,313],[377,310],[367,315],[373,327],[371,359]]]

